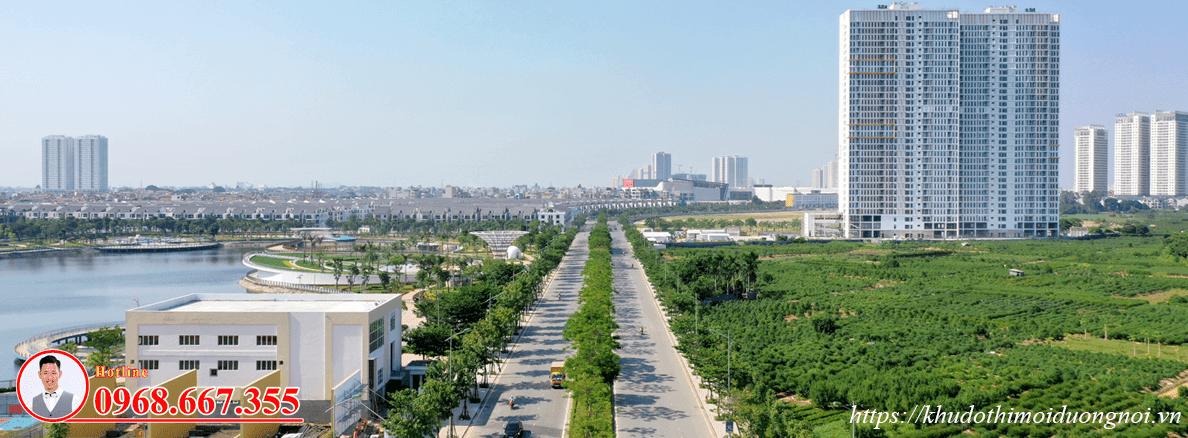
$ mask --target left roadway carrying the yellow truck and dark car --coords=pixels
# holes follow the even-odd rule
[[[525,437],[561,438],[569,399],[565,389],[549,383],[549,366],[563,361],[569,342],[561,338],[565,320],[577,310],[582,268],[589,258],[589,231],[574,237],[569,252],[557,266],[557,274],[544,291],[536,312],[508,357],[484,408],[475,415],[466,437],[503,437],[510,420],[524,421]],[[558,297],[560,293],[560,297]],[[507,406],[516,398],[516,410]]]

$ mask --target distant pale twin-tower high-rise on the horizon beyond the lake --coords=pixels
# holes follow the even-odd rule
[[[107,138],[50,135],[42,139],[42,189],[107,191]]]

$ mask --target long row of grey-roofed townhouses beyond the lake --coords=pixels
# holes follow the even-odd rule
[[[144,203],[14,203],[0,205],[0,217],[8,222],[24,216],[36,218],[173,218],[173,220],[227,220],[246,218],[264,221],[296,220],[324,224],[333,220],[349,221],[352,217],[375,217],[381,221],[415,220],[417,222],[469,222],[491,220],[542,221],[564,224],[573,216],[568,208],[551,205],[486,203],[407,203],[388,199],[371,203],[273,203],[273,202],[144,202]]]

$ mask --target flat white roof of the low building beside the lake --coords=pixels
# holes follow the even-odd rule
[[[400,294],[191,293],[129,312],[369,312]]]

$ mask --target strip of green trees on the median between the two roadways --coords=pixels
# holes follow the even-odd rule
[[[614,437],[614,380],[619,377],[619,341],[614,331],[614,277],[611,271],[611,230],[599,215],[590,231],[586,280],[579,292],[580,306],[565,322],[563,337],[575,354],[565,361],[565,388],[574,398],[569,436]]]

